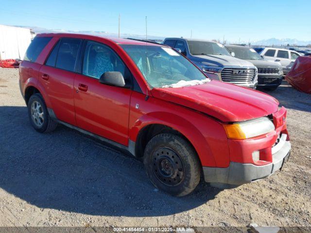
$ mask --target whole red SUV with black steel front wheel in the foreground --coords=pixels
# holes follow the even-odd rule
[[[233,187],[271,175],[289,157],[286,109],[276,99],[210,81],[163,45],[39,34],[19,75],[36,131],[61,123],[128,150],[175,196],[189,194],[201,174]]]

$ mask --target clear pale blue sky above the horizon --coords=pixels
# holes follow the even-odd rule
[[[311,0],[14,0],[0,24],[73,31],[220,39],[311,40]]]

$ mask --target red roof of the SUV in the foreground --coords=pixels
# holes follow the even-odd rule
[[[117,37],[106,37],[101,35],[92,35],[92,34],[79,34],[79,33],[40,33],[37,34],[38,37],[70,37],[70,38],[80,38],[80,39],[91,39],[91,38],[100,38],[109,40],[119,45],[150,45],[150,46],[164,46],[161,44],[149,43],[140,40],[134,39],[124,39],[124,38],[117,38]]]

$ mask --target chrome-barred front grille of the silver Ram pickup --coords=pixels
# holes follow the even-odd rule
[[[222,81],[228,83],[252,83],[255,75],[255,69],[247,68],[224,68],[221,72]]]

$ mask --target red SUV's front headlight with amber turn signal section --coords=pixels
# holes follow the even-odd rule
[[[232,139],[256,137],[275,130],[274,124],[268,117],[261,117],[223,126],[227,137]]]

